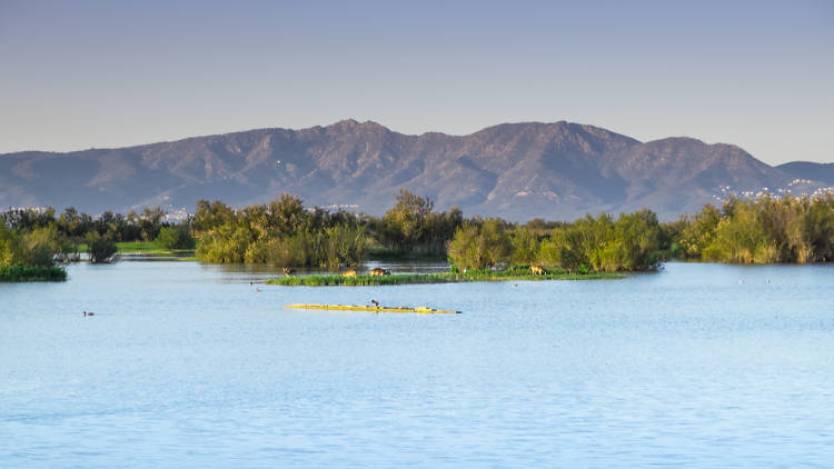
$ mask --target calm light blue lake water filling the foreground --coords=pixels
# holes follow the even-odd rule
[[[0,467],[834,465],[833,266],[249,285],[265,276],[82,263],[0,285]],[[464,312],[282,308],[371,298]]]

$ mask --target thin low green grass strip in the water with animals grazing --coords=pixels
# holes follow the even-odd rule
[[[512,281],[512,280],[595,280],[595,279],[622,279],[623,273],[595,272],[595,273],[568,273],[550,272],[544,276],[534,276],[529,272],[518,270],[479,270],[467,273],[395,273],[384,277],[356,276],[342,277],[341,275],[330,276],[306,276],[306,277],[284,277],[267,280],[269,285],[282,286],[380,286],[380,285],[420,285],[420,283],[456,283],[474,281]]]

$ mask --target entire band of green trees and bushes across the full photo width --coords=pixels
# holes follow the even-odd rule
[[[651,270],[665,259],[734,263],[824,262],[834,256],[834,198],[729,199],[662,223],[651,210],[573,222],[513,223],[437,212],[426,197],[400,191],[381,217],[305,208],[285,194],[235,209],[200,200],[192,217],[166,221],[157,209],[99,217],[73,208],[17,209],[0,214],[0,266],[51,266],[71,259],[78,243],[107,259],[117,241],[156,240],[197,247],[205,262],[268,263],[337,270],[369,255],[436,255],[454,269],[537,266],[568,272]],[[100,251],[101,256],[93,256]]]

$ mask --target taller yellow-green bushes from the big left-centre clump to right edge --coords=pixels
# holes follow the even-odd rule
[[[834,249],[834,199],[729,199],[662,223],[651,210],[573,222],[465,218],[434,211],[428,198],[400,191],[383,217],[306,210],[285,196],[234,210],[201,201],[195,216],[198,258],[335,269],[360,263],[367,247],[446,256],[456,269],[533,265],[568,272],[643,271],[666,259],[735,263],[818,262]]]

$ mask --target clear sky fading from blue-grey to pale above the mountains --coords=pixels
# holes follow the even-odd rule
[[[347,118],[834,162],[834,1],[0,0],[0,152]]]

